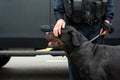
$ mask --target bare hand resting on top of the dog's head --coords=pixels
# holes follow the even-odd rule
[[[54,36],[57,37],[59,34],[61,34],[61,29],[65,28],[65,25],[66,25],[65,21],[63,19],[59,19],[56,22],[54,29],[53,29]]]

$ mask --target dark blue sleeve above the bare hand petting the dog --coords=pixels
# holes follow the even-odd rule
[[[63,0],[55,0],[54,14],[57,20],[63,19],[63,16],[64,16]]]

